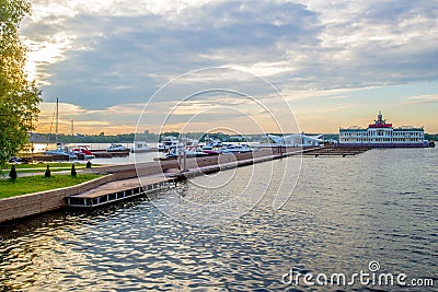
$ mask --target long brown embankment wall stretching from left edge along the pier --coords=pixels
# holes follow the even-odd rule
[[[299,151],[289,149],[288,152]],[[278,157],[277,150],[255,151],[250,153],[221,154],[217,156],[206,156],[197,159],[187,159],[185,168],[199,168],[215,165],[230,165],[238,161],[261,161],[273,160]],[[36,194],[23,195],[0,200],[0,222],[24,218],[28,215],[39,214],[51,210],[60,209],[66,206],[66,198],[81,192],[90,191],[99,186],[112,182],[123,180],[137,176],[151,176],[157,174],[165,174],[178,170],[177,160],[159,161],[114,165],[101,168],[87,170],[88,173],[105,174],[105,176],[77,185],[72,187],[42,191]]]

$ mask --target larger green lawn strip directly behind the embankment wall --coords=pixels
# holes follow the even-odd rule
[[[11,179],[0,179],[0,199],[32,194],[43,190],[64,188],[88,182],[102,175],[78,174],[77,177],[70,175],[44,175],[19,177],[15,182]]]

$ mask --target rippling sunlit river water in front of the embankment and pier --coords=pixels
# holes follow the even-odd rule
[[[299,159],[274,161],[274,168],[290,160]],[[229,172],[233,171],[217,178]],[[250,173],[251,166],[239,168],[234,179],[244,180]],[[3,224],[0,290],[437,291],[437,150],[304,157],[296,189],[280,210],[272,208],[273,189],[279,184],[279,176],[273,177],[256,207],[215,226],[199,227],[163,214],[157,206],[173,196],[171,190],[105,209],[60,211]],[[176,188],[192,198],[238,191],[235,183],[220,194],[199,192],[191,182]],[[284,278],[290,270],[350,277],[370,272],[370,261],[380,266],[372,270],[376,275],[404,273],[407,283],[431,279],[435,287],[358,280],[354,285],[311,285],[302,278],[298,284]]]

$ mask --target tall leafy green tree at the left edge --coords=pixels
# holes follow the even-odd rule
[[[39,113],[41,91],[24,70],[27,49],[20,39],[25,0],[0,0],[0,166],[25,150]]]

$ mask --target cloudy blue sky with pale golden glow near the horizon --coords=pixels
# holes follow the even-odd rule
[[[30,2],[41,132],[438,132],[437,1]]]

